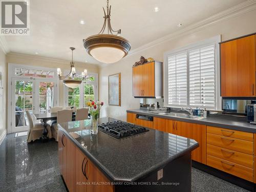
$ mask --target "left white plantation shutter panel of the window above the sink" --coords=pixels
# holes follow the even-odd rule
[[[168,104],[187,105],[187,54],[168,56]]]

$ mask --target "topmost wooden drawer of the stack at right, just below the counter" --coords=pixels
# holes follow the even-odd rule
[[[243,139],[243,140],[247,140],[247,141],[253,141],[252,133],[229,130],[229,129],[219,128],[219,127],[214,127],[214,126],[207,126],[207,133],[222,135],[225,137]]]

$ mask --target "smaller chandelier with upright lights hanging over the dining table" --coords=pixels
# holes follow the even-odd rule
[[[88,78],[88,75],[87,75],[87,69],[84,69],[81,75],[78,75],[76,73],[75,63],[73,62],[73,51],[75,50],[75,48],[70,47],[70,49],[72,50],[72,61],[70,62],[70,72],[66,76],[61,76],[61,70],[60,68],[57,68],[57,75],[59,77],[59,80],[62,80],[62,82],[67,87],[76,88],[81,84],[82,80],[86,80]]]

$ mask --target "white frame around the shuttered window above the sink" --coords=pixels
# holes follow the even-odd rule
[[[220,47],[221,35],[211,37],[202,41],[198,41],[194,44],[184,46],[175,50],[170,50],[164,53],[163,63],[163,76],[164,76],[164,106],[172,108],[181,108],[190,106],[189,103],[189,51],[207,47],[210,45],[215,46],[215,108],[206,108],[208,110],[221,110],[221,96],[220,96]],[[168,57],[186,52],[187,55],[187,105],[168,104]],[[195,108],[195,106],[191,106]],[[201,108],[201,106],[200,106]]]

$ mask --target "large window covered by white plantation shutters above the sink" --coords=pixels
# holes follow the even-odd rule
[[[220,109],[218,42],[165,53],[165,105]]]

